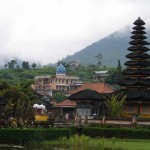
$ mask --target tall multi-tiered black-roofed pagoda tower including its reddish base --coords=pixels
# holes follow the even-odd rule
[[[145,22],[139,17],[134,23],[131,45],[126,55],[124,79],[119,82],[121,91],[127,96],[124,116],[134,114],[141,118],[150,118],[150,55],[146,41]]]

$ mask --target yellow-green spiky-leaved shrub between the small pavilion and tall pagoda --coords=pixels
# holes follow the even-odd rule
[[[106,106],[108,107],[110,117],[120,117],[125,105],[126,96],[122,96],[122,94],[113,94],[105,98],[107,100]]]

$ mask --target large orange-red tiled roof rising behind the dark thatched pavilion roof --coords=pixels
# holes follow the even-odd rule
[[[95,90],[99,93],[112,93],[114,91],[113,88],[109,84],[98,82],[98,83],[84,83],[83,85],[81,85],[81,87],[77,88],[75,91],[71,91],[70,94],[73,94],[73,93],[76,93],[76,92],[79,92],[81,90],[85,90],[88,88]]]

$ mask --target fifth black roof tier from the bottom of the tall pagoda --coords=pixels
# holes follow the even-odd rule
[[[136,53],[130,53],[126,55],[127,58],[136,58],[136,59],[149,59],[150,55],[149,54],[136,54]]]

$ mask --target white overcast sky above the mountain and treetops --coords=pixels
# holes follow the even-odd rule
[[[149,14],[150,0],[0,0],[0,60],[55,63]]]

